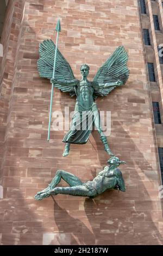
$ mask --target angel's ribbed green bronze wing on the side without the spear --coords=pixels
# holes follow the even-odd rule
[[[99,84],[95,87],[94,96],[108,95],[116,86],[110,86],[104,89],[105,83],[116,83],[121,80],[126,83],[129,77],[127,68],[128,53],[123,46],[118,47],[108,60],[99,68],[93,82]]]

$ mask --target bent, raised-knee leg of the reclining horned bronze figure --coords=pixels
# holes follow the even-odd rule
[[[83,184],[83,182],[72,173],[65,172],[65,170],[57,170],[57,173],[55,174],[54,178],[51,181],[51,184],[45,190],[42,190],[37,193],[37,195],[46,193],[49,190],[52,190],[57,184],[60,182],[60,180],[65,180],[68,185],[72,186],[80,186]]]

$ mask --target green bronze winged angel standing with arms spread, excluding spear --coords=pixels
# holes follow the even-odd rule
[[[76,95],[77,97],[70,131],[67,132],[63,139],[63,142],[66,143],[63,156],[69,154],[70,144],[85,144],[87,142],[93,124],[99,132],[105,151],[109,155],[114,156],[102,130],[95,100],[98,96],[108,95],[116,87],[124,85],[128,80],[128,54],[124,47],[120,46],[115,50],[112,56],[99,68],[92,82],[87,80],[90,70],[87,64],[83,64],[80,68],[82,80],[77,80],[73,75],[70,64],[58,49],[55,78],[52,78],[55,56],[55,44],[52,40],[44,40],[41,42],[39,52],[40,58],[37,61],[37,66],[40,76],[50,79],[54,87],[57,87],[62,92],[70,92],[70,96]],[[91,122],[84,120],[84,112],[87,113],[85,119],[89,118],[89,120],[92,120]],[[86,127],[85,129],[79,129],[83,121],[86,122]]]

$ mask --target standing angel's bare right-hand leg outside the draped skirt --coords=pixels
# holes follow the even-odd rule
[[[96,127],[97,127],[98,133],[99,133],[99,135],[100,135],[101,141],[102,141],[102,143],[104,144],[104,149],[105,149],[105,151],[106,151],[109,155],[114,156],[114,154],[111,152],[111,150],[110,150],[110,148],[109,148],[108,140],[107,140],[107,138],[106,138],[106,136],[104,135],[104,132],[103,132],[103,130],[102,130],[102,127],[101,127],[101,120],[100,120],[100,117],[99,117],[99,113],[98,113],[98,112],[95,113],[95,120],[94,120],[94,122],[95,122],[95,125],[96,125]]]

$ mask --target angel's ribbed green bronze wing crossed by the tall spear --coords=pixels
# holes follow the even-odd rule
[[[39,46],[40,58],[37,60],[37,69],[41,77],[51,79],[53,77],[53,66],[55,56],[55,44],[52,40],[44,40]],[[73,75],[70,64],[62,56],[57,49],[57,59],[55,65],[55,79],[65,82],[65,85],[55,84],[55,87],[62,90],[62,92],[73,92],[74,86],[71,81],[76,81]]]

